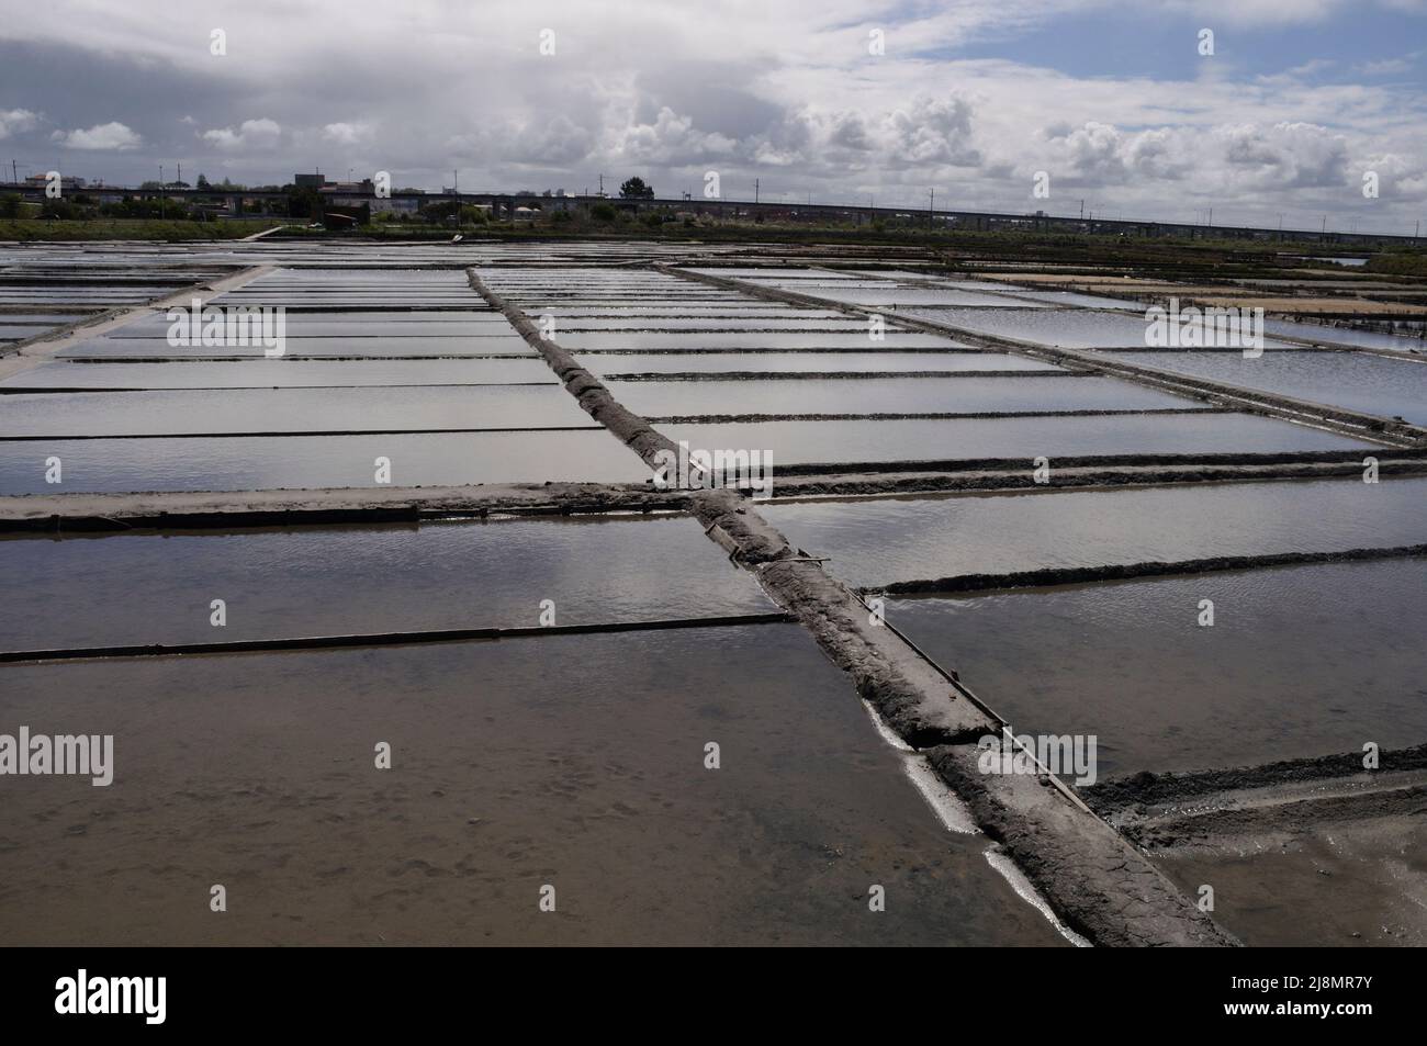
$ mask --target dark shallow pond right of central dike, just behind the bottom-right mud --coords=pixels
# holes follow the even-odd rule
[[[1427,741],[1423,559],[898,599],[886,614],[1017,732],[1096,735],[1102,775]]]

